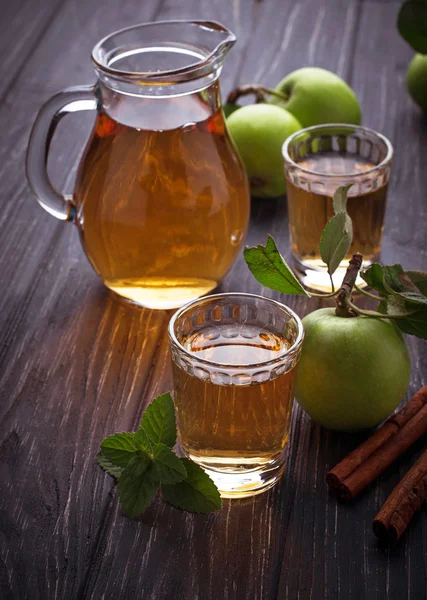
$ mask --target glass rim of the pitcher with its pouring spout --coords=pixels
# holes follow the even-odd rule
[[[114,68],[109,64],[108,57],[103,55],[103,49],[112,38],[117,35],[125,34],[138,29],[145,29],[153,26],[163,25],[189,25],[198,26],[200,28],[212,29],[225,34],[225,39],[219,41],[215,48],[213,48],[206,56],[199,58],[196,62],[192,62],[185,67],[178,69],[167,69],[164,71],[127,71]],[[222,25],[218,21],[213,19],[170,19],[165,21],[147,21],[145,23],[139,23],[137,25],[131,25],[130,27],[123,27],[117,31],[113,31],[108,35],[104,36],[99,42],[95,44],[92,50],[92,62],[95,67],[102,73],[110,75],[116,79],[138,79],[147,81],[147,83],[155,81],[165,81],[174,77],[174,82],[179,81],[190,81],[207,75],[210,71],[215,69],[214,59],[218,58],[221,60],[223,55],[226,54],[228,48],[232,46],[236,41],[236,36],[230,31],[225,25]],[[182,52],[182,50],[181,50]],[[190,54],[190,53],[189,53]]]

